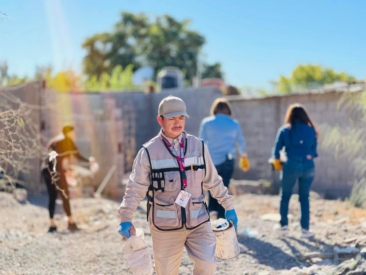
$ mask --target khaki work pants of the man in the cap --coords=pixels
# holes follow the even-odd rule
[[[150,223],[157,275],[178,275],[183,247],[194,263],[193,275],[213,275],[216,271],[216,238],[208,222],[187,230],[158,230]]]

